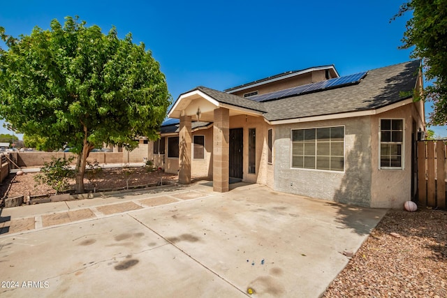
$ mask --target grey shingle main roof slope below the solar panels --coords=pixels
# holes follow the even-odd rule
[[[420,61],[369,70],[359,84],[265,102],[269,121],[374,110],[411,98]]]

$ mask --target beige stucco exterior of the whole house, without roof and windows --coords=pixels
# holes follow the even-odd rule
[[[247,86],[235,87],[229,92],[236,96],[243,96],[251,91],[265,94],[326,80],[327,70],[312,70],[297,77],[286,77],[281,80],[267,78],[262,84],[254,82]],[[330,73],[330,77],[336,75],[336,73]],[[416,90],[421,86],[420,75],[416,82]],[[362,93],[359,94],[362,96]],[[164,168],[166,172],[177,172],[180,165],[179,180],[191,181],[193,177],[208,177],[213,180],[214,191],[228,191],[230,154],[232,154],[229,136],[232,129],[242,128],[242,181],[265,184],[275,191],[334,202],[365,207],[400,208],[405,201],[413,199],[414,169],[411,165],[414,163],[415,151],[412,140],[416,140],[418,131],[425,131],[425,111],[422,101],[413,102],[412,98],[393,99],[388,105],[346,109],[346,112],[316,114],[299,119],[277,117],[278,120],[268,121],[270,112],[267,116],[261,112],[266,106],[249,105],[247,107],[246,103],[238,99],[228,98],[224,94],[216,94],[198,87],[196,90],[182,94],[169,116],[180,119],[180,143],[182,140],[192,142],[194,135],[204,135],[204,158],[193,158],[193,144],[189,147],[180,144],[181,148],[187,148],[187,153],[182,154],[180,158],[166,158]],[[362,97],[358,97],[357,100],[362,100]],[[376,108],[372,108],[373,106]],[[211,127],[191,131],[191,121],[199,119],[211,122]],[[403,120],[401,168],[383,169],[380,166],[381,119]],[[344,130],[343,170],[316,170],[292,166],[292,130],[341,126]],[[255,170],[249,173],[249,169],[253,170],[253,166],[249,165],[249,155],[252,152],[249,150],[249,142],[253,140],[253,134],[251,134],[253,129],[256,130]],[[269,163],[268,132],[270,129],[272,130],[272,162]],[[237,131],[233,133],[239,135]],[[250,134],[251,137],[249,137]],[[184,135],[191,135],[191,137],[185,138]],[[232,137],[238,140],[237,136]],[[235,141],[234,144],[238,142]],[[239,147],[235,147],[235,152],[237,148]],[[318,147],[315,148],[317,151]],[[166,139],[166,152],[168,152],[168,139]],[[339,157],[341,154],[335,156],[335,158]],[[318,159],[315,161],[317,163]],[[187,170],[184,170],[182,166],[184,164],[188,165],[185,167]],[[233,173],[236,172],[240,173],[239,170]]]

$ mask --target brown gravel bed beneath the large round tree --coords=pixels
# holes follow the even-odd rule
[[[129,186],[142,186],[147,184],[156,184],[160,181],[161,175],[163,175],[164,181],[177,181],[178,176],[174,174],[166,174],[162,172],[147,172],[145,167],[130,167],[129,171]],[[47,195],[56,193],[50,186],[46,184],[37,184],[34,181],[38,173],[26,173],[21,176],[10,174],[7,179],[3,181],[0,186],[0,198],[3,197],[16,197],[19,195]],[[124,188],[126,187],[126,175],[122,168],[107,168],[103,169],[103,172],[98,175],[96,181],[96,189],[110,189],[110,188]],[[71,179],[71,188],[74,189],[75,181]],[[90,181],[85,175],[84,187],[88,191],[93,189]]]

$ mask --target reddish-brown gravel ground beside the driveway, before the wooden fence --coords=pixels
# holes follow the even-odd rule
[[[447,211],[392,210],[323,297],[447,297]]]

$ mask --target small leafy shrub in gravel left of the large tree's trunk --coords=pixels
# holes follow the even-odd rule
[[[74,171],[71,170],[71,162],[74,157],[70,158],[51,158],[50,163],[43,163],[41,174],[34,177],[34,181],[38,184],[48,184],[56,194],[70,189],[68,180],[74,177]]]

